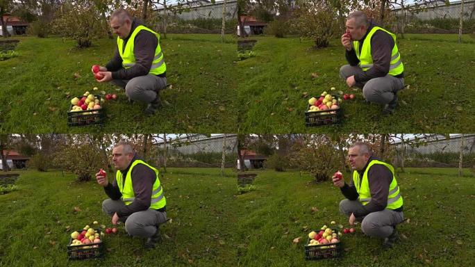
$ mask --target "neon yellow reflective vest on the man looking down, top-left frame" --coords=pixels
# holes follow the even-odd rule
[[[165,60],[163,57],[162,49],[160,48],[160,34],[152,31],[151,29],[147,28],[146,26],[140,25],[135,28],[131,37],[128,38],[128,41],[125,45],[124,49],[124,40],[117,37],[117,49],[119,49],[119,55],[122,58],[122,67],[128,69],[135,65],[135,56],[133,54],[133,46],[135,36],[139,33],[139,31],[149,31],[156,35],[157,37],[157,47],[155,49],[155,56],[153,56],[153,60],[150,66],[149,74],[158,75],[162,74],[167,70],[167,65],[165,64]]]

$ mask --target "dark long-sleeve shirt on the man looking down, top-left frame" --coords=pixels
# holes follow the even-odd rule
[[[134,18],[132,21],[131,33],[124,39],[124,49],[128,39],[131,37],[133,31],[142,25],[140,20]],[[113,58],[106,64],[109,72],[112,72],[113,79],[130,80],[137,76],[147,75],[150,72],[150,67],[155,57],[155,50],[158,44],[156,35],[149,31],[140,31],[135,35],[133,42],[133,55],[135,56],[135,65],[128,69],[122,67],[122,58],[119,54],[119,47],[115,47]],[[158,74],[157,76],[166,76],[166,73]]]

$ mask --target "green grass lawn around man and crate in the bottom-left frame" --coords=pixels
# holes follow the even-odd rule
[[[126,236],[122,224],[117,236],[103,238],[104,259],[68,261],[72,231],[66,227],[81,229],[94,220],[112,226],[101,211],[106,194],[97,182],[77,184],[68,173],[21,172],[19,190],[0,195],[0,266],[232,266],[238,242],[233,225],[240,213],[236,174],[220,173],[168,168],[161,181],[170,220],[160,227],[163,241],[156,250],[144,250],[144,241]]]

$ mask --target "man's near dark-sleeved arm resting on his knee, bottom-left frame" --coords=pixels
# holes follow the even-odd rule
[[[129,216],[137,211],[145,211],[150,207],[153,183],[156,179],[155,172],[146,165],[138,164],[133,168],[131,177],[135,200],[117,211],[119,217]]]

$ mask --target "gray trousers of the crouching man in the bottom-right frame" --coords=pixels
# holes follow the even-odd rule
[[[351,216],[351,213],[362,210],[363,204],[358,200],[344,199],[340,202],[340,212],[348,217]],[[383,209],[369,213],[363,218],[356,218],[356,220],[361,222],[361,229],[367,236],[386,238],[392,234],[392,230],[398,223],[403,222],[404,215],[402,212],[392,209]]]

